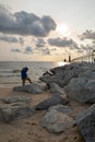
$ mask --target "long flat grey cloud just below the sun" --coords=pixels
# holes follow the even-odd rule
[[[57,47],[70,47],[70,48],[79,48],[76,43],[74,43],[72,39],[67,38],[49,38],[48,44],[50,46],[57,46]]]

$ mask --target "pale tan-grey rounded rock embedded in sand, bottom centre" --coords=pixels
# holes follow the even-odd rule
[[[69,113],[71,109],[62,105],[50,107],[41,121],[41,126],[51,133],[60,133],[74,125]]]

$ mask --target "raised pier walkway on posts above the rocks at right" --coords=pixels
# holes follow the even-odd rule
[[[88,55],[80,56],[78,58],[74,58],[71,61],[72,62],[75,62],[75,61],[95,62],[95,50],[92,50],[92,52],[88,54]]]

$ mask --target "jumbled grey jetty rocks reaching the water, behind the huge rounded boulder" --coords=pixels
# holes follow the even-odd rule
[[[78,78],[80,73],[84,73],[91,70],[94,71],[92,63],[71,62],[71,64],[51,69],[50,71],[52,72],[52,75],[46,74],[40,76],[39,80],[46,84],[57,83],[59,86],[64,87],[69,84],[71,79]]]

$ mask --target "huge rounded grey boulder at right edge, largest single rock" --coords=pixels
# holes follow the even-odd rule
[[[95,103],[95,80],[74,78],[64,91],[70,98],[80,103]]]

